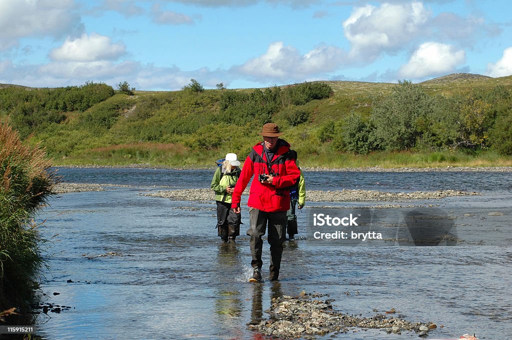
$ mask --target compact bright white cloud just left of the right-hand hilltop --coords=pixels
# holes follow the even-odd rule
[[[466,53],[439,42],[425,42],[414,52],[398,75],[408,79],[420,79],[450,73],[464,62]]]

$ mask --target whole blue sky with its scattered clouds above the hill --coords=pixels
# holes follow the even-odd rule
[[[0,83],[141,90],[512,74],[508,1],[0,0]]]

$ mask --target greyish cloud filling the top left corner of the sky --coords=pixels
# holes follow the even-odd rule
[[[17,46],[28,36],[80,35],[83,25],[73,0],[0,1],[0,51]]]

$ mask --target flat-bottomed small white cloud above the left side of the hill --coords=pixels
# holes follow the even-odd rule
[[[90,62],[114,60],[124,53],[123,43],[112,43],[112,39],[104,35],[84,33],[77,39],[68,38],[62,46],[50,52],[50,57],[54,61]]]

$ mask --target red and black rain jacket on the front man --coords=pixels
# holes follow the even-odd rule
[[[297,183],[301,172],[298,170],[295,159],[289,151],[290,144],[279,139],[277,150],[271,162],[269,162],[273,173],[278,175],[274,176],[272,184],[262,184],[258,177],[260,174],[269,173],[266,162],[267,157],[264,152],[263,143],[254,145],[244,162],[237,185],[234,187],[231,207],[237,208],[240,205],[242,192],[254,175],[249,189],[247,206],[265,212],[286,211],[290,209],[289,187]]]

